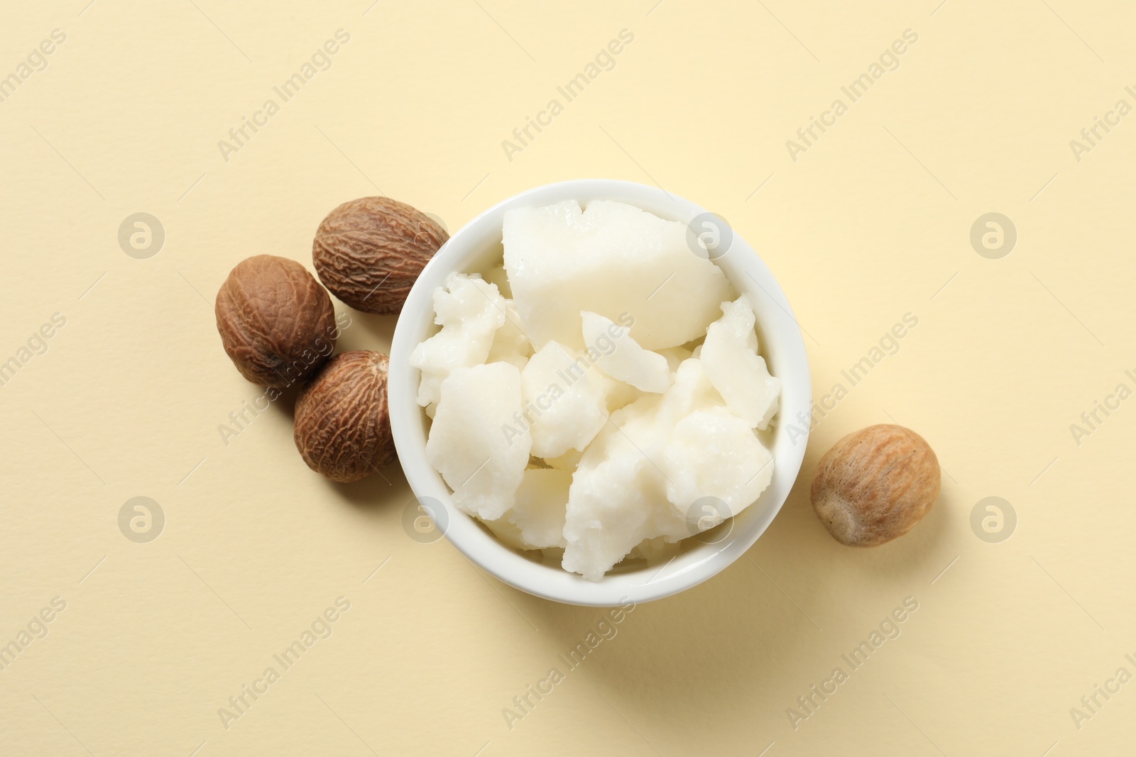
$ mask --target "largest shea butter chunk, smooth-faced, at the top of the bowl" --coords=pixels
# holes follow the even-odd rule
[[[691,252],[686,226],[632,205],[595,200],[506,211],[504,269],[536,347],[551,339],[585,348],[580,311],[618,320],[645,350],[705,334],[733,297],[725,274]]]

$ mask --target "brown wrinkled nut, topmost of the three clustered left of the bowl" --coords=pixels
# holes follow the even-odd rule
[[[336,297],[368,313],[398,313],[423,268],[450,235],[390,197],[344,202],[316,230],[311,260]]]

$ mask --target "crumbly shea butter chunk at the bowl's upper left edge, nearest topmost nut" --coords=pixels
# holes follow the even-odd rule
[[[434,289],[434,322],[441,330],[410,353],[421,371],[418,404],[437,403],[442,381],[454,368],[485,362],[506,320],[506,301],[493,284],[453,272]]]

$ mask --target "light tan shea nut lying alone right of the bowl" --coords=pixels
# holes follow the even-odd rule
[[[938,485],[938,459],[922,437],[869,426],[820,459],[812,506],[841,544],[875,547],[910,531],[935,504]]]

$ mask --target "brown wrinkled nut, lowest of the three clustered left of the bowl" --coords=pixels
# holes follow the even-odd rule
[[[295,401],[295,447],[308,468],[333,481],[358,481],[394,462],[386,404],[386,355],[368,350],[332,358]]]

